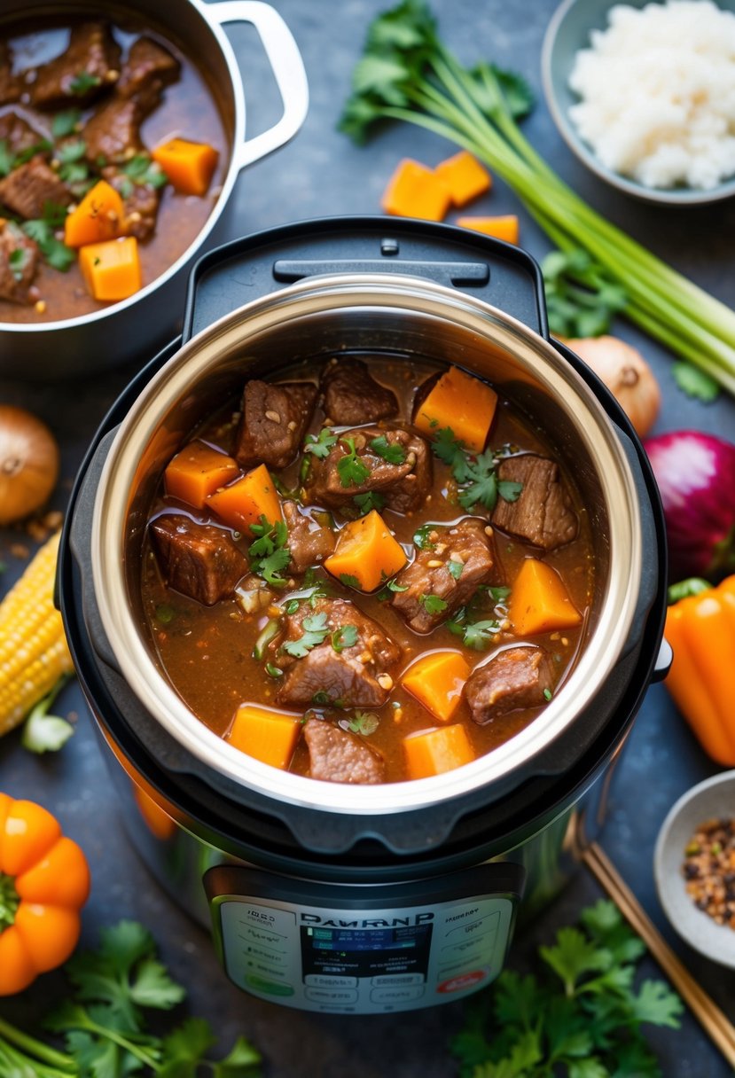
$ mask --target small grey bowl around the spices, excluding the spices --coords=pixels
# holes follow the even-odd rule
[[[735,817],[735,771],[721,772],[682,794],[664,820],[653,855],[661,904],[681,938],[721,966],[735,968],[735,929],[718,925],[687,893],[684,848],[705,820]]]

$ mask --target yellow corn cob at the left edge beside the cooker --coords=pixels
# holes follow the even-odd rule
[[[46,540],[0,603],[0,735],[8,733],[72,669],[54,606],[59,534]]]

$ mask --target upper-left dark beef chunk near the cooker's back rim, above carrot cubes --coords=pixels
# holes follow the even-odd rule
[[[245,387],[242,418],[237,431],[235,458],[244,468],[291,464],[304,438],[317,401],[317,387],[308,382],[273,385],[253,378]]]

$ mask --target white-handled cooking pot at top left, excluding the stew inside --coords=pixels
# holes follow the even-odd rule
[[[106,5],[103,14],[123,25],[135,16],[137,23],[160,30],[196,61],[220,107],[230,138],[230,164],[211,213],[193,243],[135,295],[77,318],[38,323],[0,321],[0,375],[5,377],[53,381],[98,373],[134,359],[142,367],[176,332],[188,272],[222,218],[240,170],[292,138],[306,118],[308,86],[301,54],[278,12],[262,0],[125,0]],[[64,4],[3,0],[0,31],[19,19],[59,15],[99,18],[100,5],[97,0]],[[242,75],[224,32],[231,23],[251,23],[258,30],[283,105],[276,124],[247,140]],[[248,93],[255,88],[249,86]]]

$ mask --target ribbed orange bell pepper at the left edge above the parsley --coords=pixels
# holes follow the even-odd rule
[[[67,960],[88,895],[86,857],[55,817],[0,793],[0,996]]]

